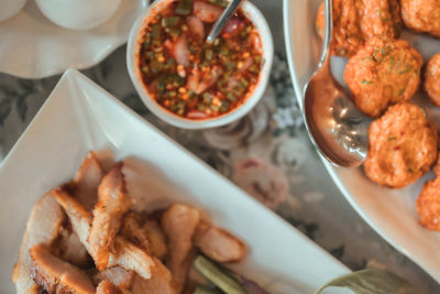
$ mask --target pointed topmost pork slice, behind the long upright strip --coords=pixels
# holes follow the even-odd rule
[[[75,198],[91,210],[98,200],[98,186],[103,177],[103,171],[94,151],[82,160],[73,184]]]

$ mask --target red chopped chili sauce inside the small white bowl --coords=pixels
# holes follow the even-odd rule
[[[262,67],[260,34],[239,9],[213,44],[206,36],[226,0],[177,0],[151,18],[139,67],[148,94],[188,119],[224,115],[252,94]]]

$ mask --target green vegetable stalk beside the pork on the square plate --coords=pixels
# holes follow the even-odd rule
[[[224,293],[248,294],[248,291],[245,291],[235,279],[227,274],[223,269],[207,258],[198,255],[194,262],[194,266],[207,280],[216,284]]]

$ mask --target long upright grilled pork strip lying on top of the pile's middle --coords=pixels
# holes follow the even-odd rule
[[[123,214],[129,210],[131,205],[132,202],[122,174],[122,163],[118,163],[99,185],[98,204],[94,209],[94,220],[88,239],[91,257],[100,271],[108,266],[113,239],[121,227]]]

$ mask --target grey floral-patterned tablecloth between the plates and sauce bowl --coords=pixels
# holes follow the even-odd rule
[[[384,268],[418,293],[440,286],[386,243],[345,202],[314,150],[296,105],[285,57],[282,0],[254,0],[275,41],[271,83],[244,119],[224,128],[186,131],[160,121],[142,104],[125,69],[125,46],[81,70],[178,143],[268,206],[352,270]],[[0,160],[43,105],[59,76],[20,79],[0,74]]]

